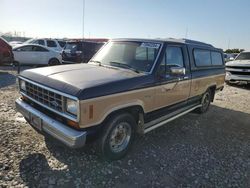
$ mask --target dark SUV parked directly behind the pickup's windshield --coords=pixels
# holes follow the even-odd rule
[[[87,63],[104,42],[69,41],[62,51],[63,63]]]

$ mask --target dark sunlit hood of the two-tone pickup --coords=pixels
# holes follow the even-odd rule
[[[94,64],[74,64],[29,69],[23,71],[20,76],[63,93],[79,97],[79,93],[86,89],[96,89],[96,87],[100,86],[103,88],[107,84],[110,85],[124,80],[131,81],[131,79],[142,77],[144,74]]]

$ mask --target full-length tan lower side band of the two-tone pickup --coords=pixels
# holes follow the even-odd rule
[[[215,75],[186,80],[178,83],[138,89],[103,97],[80,101],[80,127],[86,128],[100,124],[111,112],[129,106],[139,105],[144,112],[151,112],[166,107],[188,97],[201,95],[211,85],[220,87],[224,84],[225,75]],[[191,88],[191,91],[190,91]],[[190,91],[190,96],[189,96]],[[89,106],[93,105],[93,116],[89,118]]]

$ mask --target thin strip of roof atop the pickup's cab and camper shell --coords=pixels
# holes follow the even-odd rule
[[[143,38],[118,38],[112,39],[112,41],[122,41],[122,40],[129,40],[129,41],[145,41],[145,42],[174,42],[174,43],[182,43],[182,44],[191,44],[197,46],[205,46],[214,48],[213,45],[207,44],[200,41],[190,40],[190,39],[174,39],[174,38],[157,38],[157,39],[143,39]]]

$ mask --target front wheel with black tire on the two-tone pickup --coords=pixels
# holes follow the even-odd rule
[[[128,113],[113,115],[104,125],[97,143],[102,157],[113,161],[123,158],[129,151],[135,137],[136,122]]]

